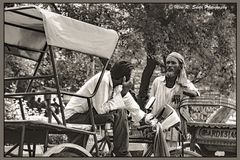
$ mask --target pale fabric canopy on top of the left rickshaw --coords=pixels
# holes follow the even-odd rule
[[[32,60],[38,60],[40,54],[23,48],[44,50],[47,44],[110,59],[118,38],[114,30],[36,6],[5,10],[5,43],[10,45],[5,51]],[[23,48],[13,49],[11,45]]]

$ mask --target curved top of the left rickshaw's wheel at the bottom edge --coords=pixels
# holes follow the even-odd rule
[[[63,143],[50,148],[43,154],[44,157],[92,157],[83,147],[73,143]]]

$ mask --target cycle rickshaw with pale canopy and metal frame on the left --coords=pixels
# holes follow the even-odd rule
[[[11,149],[4,153],[4,156],[23,156],[23,151],[27,151],[29,156],[34,157],[36,145],[43,144],[44,152],[48,150],[49,134],[83,133],[94,137],[93,150],[99,156],[99,149],[96,136],[96,125],[91,114],[91,124],[74,125],[66,124],[63,102],[61,95],[77,96],[86,98],[89,111],[92,113],[91,97],[93,97],[102,76],[106,70],[110,58],[118,42],[118,34],[114,30],[101,28],[66,16],[62,16],[36,6],[24,6],[7,8],[4,11],[4,49],[5,54],[11,54],[26,58],[36,62],[32,76],[27,77],[5,77],[5,81],[28,80],[28,87],[21,93],[4,93],[4,98],[14,98],[19,100],[22,120],[4,121],[4,145],[14,144]],[[105,62],[102,67],[102,74],[98,80],[94,92],[90,96],[82,96],[70,92],[62,91],[59,85],[58,72],[55,62],[54,48],[63,48],[77,51],[103,59]],[[43,57],[50,57],[52,64],[52,75],[37,75]],[[43,92],[32,92],[31,86],[36,79],[53,79],[55,89],[46,89]],[[29,95],[45,95],[50,103],[50,95],[55,94],[60,104],[61,117],[52,113],[57,123],[48,123],[39,120],[26,120],[22,99]],[[50,109],[51,110],[51,109]],[[27,148],[26,148],[27,146]],[[81,155],[92,156],[86,149],[73,143],[61,144],[59,147],[66,146],[74,148]],[[12,151],[18,148],[18,154],[13,155]]]

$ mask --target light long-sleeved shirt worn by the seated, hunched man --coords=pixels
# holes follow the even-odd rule
[[[89,79],[76,94],[89,96],[93,93],[100,74],[98,73]],[[98,114],[108,113],[116,109],[127,109],[132,115],[133,121],[140,121],[144,117],[145,112],[140,109],[130,93],[122,97],[121,91],[121,85],[115,87],[113,90],[110,71],[106,71],[96,95],[92,98],[93,107]],[[72,97],[64,112],[66,119],[68,119],[75,113],[84,113],[86,111],[88,111],[87,99]]]

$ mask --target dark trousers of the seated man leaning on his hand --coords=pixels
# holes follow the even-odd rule
[[[113,124],[113,153],[117,157],[131,156],[129,148],[129,127],[127,111],[124,109],[118,109],[111,111],[106,114],[98,114],[96,110],[93,110],[93,117],[95,123],[98,125],[105,123]],[[70,118],[66,120],[67,123],[78,123],[78,124],[90,124],[90,113],[75,113]],[[86,148],[87,140],[89,135],[87,134],[67,134],[68,141],[78,144]]]

